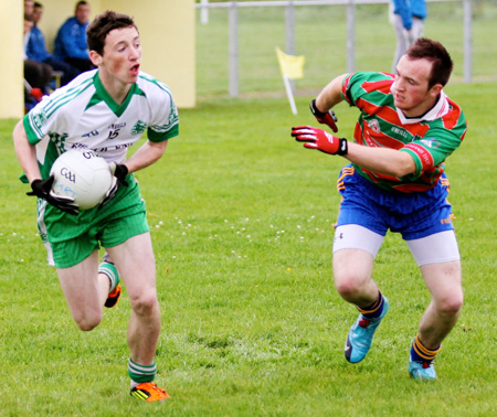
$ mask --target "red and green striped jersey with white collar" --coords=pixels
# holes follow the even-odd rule
[[[361,111],[353,139],[366,147],[384,147],[408,152],[416,171],[402,178],[356,171],[381,189],[419,192],[432,189],[445,169],[445,159],[461,145],[467,130],[459,106],[445,93],[435,106],[419,118],[406,118],[395,108],[390,92],[395,76],[385,73],[353,73],[346,77],[342,97]]]

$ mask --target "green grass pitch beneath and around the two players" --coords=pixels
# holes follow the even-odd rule
[[[388,235],[374,279],[391,301],[369,356],[342,345],[355,308],[332,288],[335,181],[343,160],[302,148],[313,122],[286,99],[213,99],[181,111],[181,136],[139,172],[158,269],[157,381],[172,396],[127,394],[126,292],[103,323],[77,330],[35,235],[10,132],[0,122],[1,416],[486,416],[497,413],[494,156],[497,84],[453,85],[469,131],[447,161],[466,304],[437,359],[440,379],[408,377],[430,297],[404,243]],[[355,109],[337,109],[350,137]]]

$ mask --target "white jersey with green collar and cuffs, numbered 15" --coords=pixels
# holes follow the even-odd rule
[[[152,142],[179,132],[171,92],[142,72],[121,105],[105,90],[97,70],[83,73],[44,97],[23,124],[30,143],[36,145],[43,179],[55,159],[68,149],[92,149],[108,163],[123,163],[128,148],[146,130]]]

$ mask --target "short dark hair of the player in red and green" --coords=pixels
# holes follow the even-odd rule
[[[444,45],[427,38],[417,39],[405,52],[410,60],[427,60],[432,65],[429,88],[435,84],[445,86],[451,77],[454,63]]]

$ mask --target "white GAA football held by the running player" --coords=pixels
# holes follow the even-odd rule
[[[55,177],[53,193],[73,197],[81,210],[102,203],[113,182],[105,159],[89,149],[71,149],[62,153],[50,174]]]

